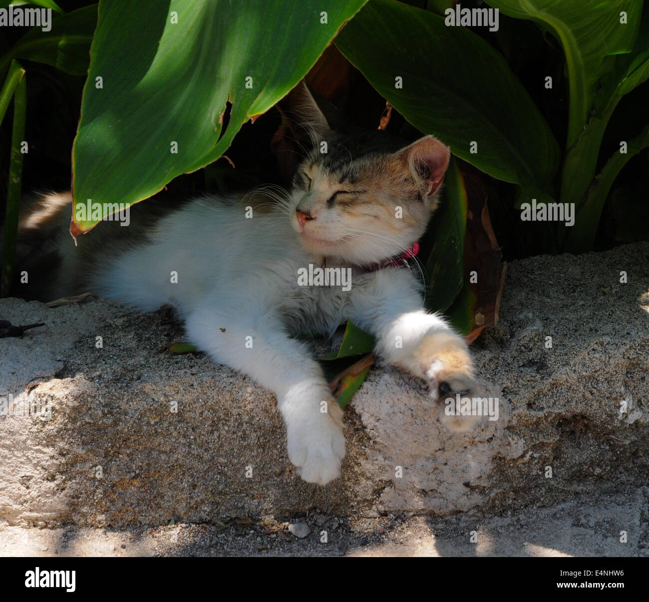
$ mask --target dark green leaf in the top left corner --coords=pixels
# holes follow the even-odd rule
[[[86,75],[90,64],[90,44],[97,25],[97,5],[56,16],[49,31],[32,27],[3,56],[0,73],[12,58],[45,63],[71,73]]]

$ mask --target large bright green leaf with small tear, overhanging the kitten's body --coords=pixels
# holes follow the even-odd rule
[[[363,3],[101,0],[73,149],[75,209],[138,202],[219,158]],[[75,219],[71,231],[96,223]]]

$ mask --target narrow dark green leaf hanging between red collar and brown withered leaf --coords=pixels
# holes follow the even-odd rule
[[[462,288],[467,203],[464,178],[458,162],[451,158],[441,204],[423,241],[424,247],[432,245],[426,260],[426,274],[430,279],[426,307],[432,311],[445,311]]]

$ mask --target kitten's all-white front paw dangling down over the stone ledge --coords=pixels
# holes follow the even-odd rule
[[[345,457],[343,411],[335,400],[328,401],[326,413],[313,424],[288,425],[288,455],[307,483],[326,485],[340,475]]]

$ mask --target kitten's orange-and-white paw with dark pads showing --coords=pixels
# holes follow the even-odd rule
[[[440,422],[452,433],[471,430],[479,416],[459,412],[463,400],[472,400],[477,394],[467,344],[454,333],[430,334],[422,339],[415,355],[437,402]]]

